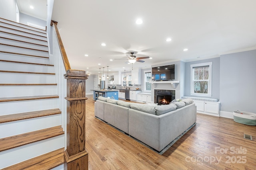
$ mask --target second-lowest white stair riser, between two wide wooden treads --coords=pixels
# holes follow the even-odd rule
[[[1,123],[0,138],[38,131],[58,125],[61,125],[61,114]]]

